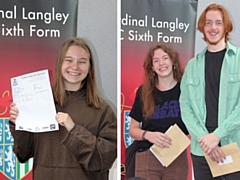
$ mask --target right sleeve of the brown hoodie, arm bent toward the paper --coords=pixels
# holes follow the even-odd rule
[[[97,136],[75,125],[63,144],[87,171],[109,170],[117,157],[117,119],[111,107],[102,113]]]

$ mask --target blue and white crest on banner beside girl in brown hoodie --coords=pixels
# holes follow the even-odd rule
[[[8,119],[0,119],[0,171],[9,179],[21,179],[32,169],[32,160],[20,164],[13,152]]]

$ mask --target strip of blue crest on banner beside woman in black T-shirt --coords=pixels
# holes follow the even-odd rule
[[[131,117],[129,116],[130,111],[124,111],[124,143],[128,147],[132,144],[134,139],[129,135],[129,128],[131,123]]]

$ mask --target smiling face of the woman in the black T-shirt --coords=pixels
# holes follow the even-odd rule
[[[162,49],[154,51],[152,69],[158,78],[173,77],[173,63],[169,55]]]

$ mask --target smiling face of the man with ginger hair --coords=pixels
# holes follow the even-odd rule
[[[206,13],[204,36],[210,46],[225,46],[224,22],[221,11],[209,10]]]

